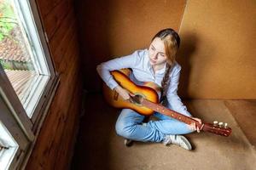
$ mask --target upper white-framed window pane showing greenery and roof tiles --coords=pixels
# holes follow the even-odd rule
[[[0,63],[32,117],[49,71],[30,11],[27,3],[0,0]]]

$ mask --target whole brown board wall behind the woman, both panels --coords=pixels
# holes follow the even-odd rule
[[[178,91],[182,97],[256,99],[254,0],[76,3],[84,88],[101,89],[97,64],[146,48],[156,31],[172,27],[182,38],[177,59],[183,66]]]

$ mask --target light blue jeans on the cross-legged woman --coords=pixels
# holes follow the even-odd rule
[[[161,142],[167,134],[192,133],[189,126],[169,116],[155,112],[159,121],[143,123],[144,116],[130,109],[123,109],[116,122],[116,133],[125,139],[142,142]]]

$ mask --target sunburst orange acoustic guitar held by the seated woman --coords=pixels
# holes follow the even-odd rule
[[[119,71],[111,71],[111,74],[119,86],[127,89],[131,94],[130,100],[125,100],[119,94],[108,88],[106,84],[103,85],[103,94],[108,104],[116,108],[129,108],[137,111],[143,116],[150,116],[157,111],[166,116],[171,116],[178,121],[186,124],[195,123],[201,131],[215,133],[222,136],[229,136],[231,128],[227,123],[214,121],[213,123],[202,122],[199,123],[189,116],[184,116],[177,111],[172,111],[163,105],[159,104],[160,87],[154,82],[144,82],[144,84],[137,85],[129,78],[131,71],[129,69],[122,69]]]

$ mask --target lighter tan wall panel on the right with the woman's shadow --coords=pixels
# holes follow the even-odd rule
[[[256,2],[187,2],[180,28],[179,93],[194,99],[256,98]]]

